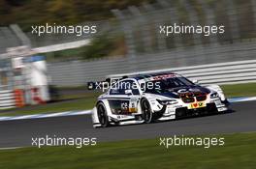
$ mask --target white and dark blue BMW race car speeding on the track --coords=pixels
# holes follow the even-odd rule
[[[174,72],[124,76],[100,84],[98,88],[109,89],[92,110],[93,127],[149,124],[229,110],[218,85],[203,87]]]

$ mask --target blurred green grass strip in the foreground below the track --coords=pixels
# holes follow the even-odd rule
[[[22,148],[0,151],[5,169],[252,169],[256,166],[256,133],[211,135],[224,137],[224,146],[183,146],[169,149],[159,139],[97,143],[83,147]]]

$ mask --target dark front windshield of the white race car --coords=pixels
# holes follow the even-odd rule
[[[146,83],[151,83],[152,81],[148,81]],[[174,88],[192,86],[194,83],[186,79],[185,77],[172,77],[165,78],[160,80],[154,80],[155,84],[152,88],[145,88],[146,93],[163,93],[171,91]]]

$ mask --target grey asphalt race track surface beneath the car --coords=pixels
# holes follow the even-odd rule
[[[93,128],[90,115],[0,122],[0,148],[31,146],[32,137],[96,137],[97,142],[156,138],[174,134],[256,131],[256,101],[232,104],[233,113],[148,125]]]

